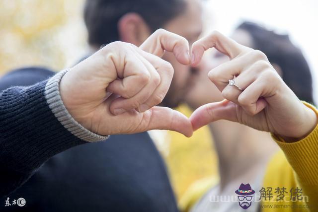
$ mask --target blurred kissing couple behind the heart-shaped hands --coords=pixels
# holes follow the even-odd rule
[[[159,28],[184,37],[191,46],[203,31],[201,3],[201,0],[86,0],[84,22],[92,52],[84,58],[114,41],[140,46]],[[265,53],[297,97],[314,103],[311,71],[301,50],[288,35],[277,34],[257,23],[243,22],[231,37]],[[165,53],[163,59],[173,66],[174,75],[161,106],[175,108],[186,103],[195,110],[224,99],[207,75],[208,71],[229,61],[226,55],[208,51],[196,67],[181,65],[172,53]],[[0,89],[31,85],[52,75],[53,71],[37,67],[15,70],[0,79]],[[45,162],[11,195],[24,197],[28,201],[25,210],[34,212],[243,211],[237,202],[210,201],[211,196],[235,195],[242,182],[249,183],[256,192],[262,187],[293,188],[305,184],[304,193],[312,200],[318,198],[314,190],[317,185],[307,184],[317,176],[307,172],[306,176],[299,176],[298,158],[286,153],[292,152],[286,150],[288,147],[281,146],[286,158],[269,133],[229,121],[213,122],[209,129],[217,152],[217,177],[195,182],[180,199],[179,206],[165,163],[153,142],[154,136],[147,132],[113,135],[105,142],[82,144],[61,152]],[[294,151],[303,150],[299,147]],[[302,166],[305,170],[315,170],[315,161],[307,159],[310,163]],[[291,161],[294,164],[290,164]],[[265,211],[261,204],[266,205],[255,202],[250,210]]]

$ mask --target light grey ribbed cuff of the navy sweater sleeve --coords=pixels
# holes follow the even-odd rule
[[[54,75],[45,86],[45,97],[55,117],[60,123],[74,136],[87,142],[104,141],[108,136],[97,135],[83,126],[81,126],[68,112],[65,105],[63,104],[59,85],[64,74],[68,70],[61,71]]]

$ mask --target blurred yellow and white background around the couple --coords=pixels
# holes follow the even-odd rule
[[[84,0],[1,0],[0,75],[24,66],[59,71],[74,65],[88,51],[82,21]],[[304,51],[318,94],[317,0],[206,0],[205,33],[216,29],[230,35],[242,20],[290,33]],[[186,26],[185,26],[186,27]],[[178,108],[184,114],[186,106]],[[181,197],[196,180],[217,174],[217,160],[207,128],[190,139],[165,132],[156,144],[165,158],[171,182]]]

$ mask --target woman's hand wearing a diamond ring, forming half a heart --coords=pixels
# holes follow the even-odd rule
[[[195,110],[190,117],[194,130],[226,119],[293,141],[306,137],[315,128],[314,111],[284,83],[266,55],[213,32],[193,44],[191,64],[196,66],[204,51],[212,47],[231,59],[209,72],[225,100]],[[235,85],[229,84],[231,79]]]

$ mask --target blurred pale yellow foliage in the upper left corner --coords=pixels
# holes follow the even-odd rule
[[[65,49],[70,46],[61,42],[61,31],[70,26],[74,17],[81,18],[82,2],[1,0],[0,73],[32,65],[64,68],[68,53]]]

